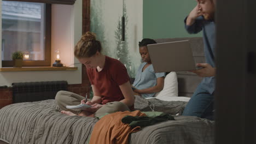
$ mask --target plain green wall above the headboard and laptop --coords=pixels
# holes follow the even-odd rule
[[[188,34],[184,29],[195,5],[195,0],[143,0],[143,38],[202,37],[202,32]]]

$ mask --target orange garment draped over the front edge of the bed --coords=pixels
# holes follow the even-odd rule
[[[129,124],[124,124],[121,119],[125,116],[146,116],[141,111],[124,111],[114,112],[102,117],[94,126],[92,130],[90,144],[125,144],[128,142],[130,133],[134,133],[141,129],[141,127],[131,128]]]

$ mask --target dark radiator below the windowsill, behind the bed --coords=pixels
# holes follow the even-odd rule
[[[67,81],[12,83],[13,103],[55,99],[58,91],[67,90]]]

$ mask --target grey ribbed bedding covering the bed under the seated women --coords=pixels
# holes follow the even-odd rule
[[[136,97],[135,109],[164,111],[173,115],[184,109],[183,101]],[[214,122],[197,117],[175,116],[131,134],[129,143],[214,143]],[[0,109],[0,140],[9,143],[86,143],[97,118],[66,116],[55,100],[18,103]]]

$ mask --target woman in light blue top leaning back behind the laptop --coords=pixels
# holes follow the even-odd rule
[[[153,39],[143,39],[139,42],[139,53],[144,63],[139,65],[135,81],[132,84],[133,91],[144,98],[153,97],[156,92],[164,88],[165,73],[155,73],[148,53],[149,44],[156,44]]]

